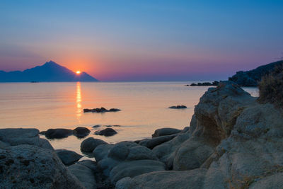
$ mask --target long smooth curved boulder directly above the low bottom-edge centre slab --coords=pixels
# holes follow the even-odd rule
[[[154,171],[165,171],[166,166],[160,161],[137,160],[129,161],[115,166],[110,172],[110,179],[113,184],[122,178],[139,176]]]

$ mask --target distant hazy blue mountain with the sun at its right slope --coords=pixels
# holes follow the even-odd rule
[[[1,71],[0,82],[58,82],[58,81],[98,81],[93,76],[81,72],[76,74],[74,71],[62,67],[55,62],[46,62],[42,66],[25,69],[24,71]]]

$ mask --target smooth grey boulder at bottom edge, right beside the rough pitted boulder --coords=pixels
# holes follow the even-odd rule
[[[96,189],[96,178],[90,168],[81,164],[74,164],[68,167],[69,171],[81,181],[87,189]]]

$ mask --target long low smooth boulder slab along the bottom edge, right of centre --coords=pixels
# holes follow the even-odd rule
[[[123,178],[116,183],[116,189],[134,188],[202,188],[207,172],[204,168],[192,171],[156,171],[141,174],[134,178]]]

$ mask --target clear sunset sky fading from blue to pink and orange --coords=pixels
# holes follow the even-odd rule
[[[0,1],[0,70],[100,81],[227,79],[283,57],[283,1]]]

